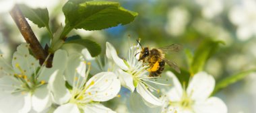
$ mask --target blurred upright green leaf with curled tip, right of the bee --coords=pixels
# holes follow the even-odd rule
[[[193,57],[193,61],[191,63],[191,75],[202,71],[203,67],[212,54],[216,52],[220,44],[224,44],[222,41],[213,41],[213,40],[204,40],[197,50],[195,51],[195,56]]]

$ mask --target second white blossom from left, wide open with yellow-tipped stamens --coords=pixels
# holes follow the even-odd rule
[[[113,112],[100,102],[115,98],[119,93],[121,83],[115,73],[101,72],[88,79],[90,63],[86,63],[79,53],[63,62],[67,62],[64,76],[59,73],[49,81],[54,101],[60,105],[55,113]]]

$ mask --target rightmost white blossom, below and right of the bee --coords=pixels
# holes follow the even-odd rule
[[[226,104],[220,98],[210,97],[214,90],[215,80],[205,72],[193,76],[187,89],[184,89],[177,77],[168,71],[173,87],[166,93],[162,112],[181,113],[226,113]]]

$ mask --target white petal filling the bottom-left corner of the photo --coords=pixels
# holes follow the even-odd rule
[[[0,91],[0,112],[17,113],[24,106],[24,95]]]

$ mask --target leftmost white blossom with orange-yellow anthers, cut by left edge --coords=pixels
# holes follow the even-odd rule
[[[55,70],[62,65],[57,57],[63,56],[65,52],[55,52],[53,67],[47,69],[40,66],[29,53],[29,45],[26,43],[18,46],[13,54],[12,65],[9,65],[3,54],[0,57],[0,110],[1,112],[42,112],[51,106],[51,93],[48,89],[48,81]]]

